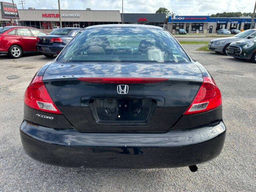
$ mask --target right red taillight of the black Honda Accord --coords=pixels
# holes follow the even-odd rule
[[[210,77],[204,77],[204,82],[199,88],[193,102],[190,104],[184,115],[202,113],[212,110],[222,104],[219,88]]]

